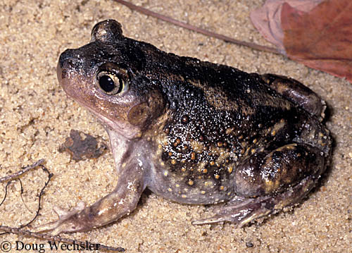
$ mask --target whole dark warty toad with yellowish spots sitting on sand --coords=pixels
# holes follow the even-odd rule
[[[63,90],[101,121],[118,183],[95,204],[42,227],[89,230],[130,214],[146,187],[187,204],[226,202],[211,218],[241,227],[301,201],[331,150],[325,103],[296,80],[167,54],[120,23],[58,61]]]

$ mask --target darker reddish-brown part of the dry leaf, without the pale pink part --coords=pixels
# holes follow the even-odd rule
[[[289,58],[352,82],[352,1],[327,0],[311,11],[284,4],[281,20]]]

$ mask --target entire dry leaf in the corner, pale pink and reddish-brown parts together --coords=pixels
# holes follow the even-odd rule
[[[268,0],[253,25],[282,54],[352,82],[351,0]]]

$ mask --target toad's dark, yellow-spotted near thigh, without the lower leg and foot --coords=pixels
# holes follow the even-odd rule
[[[234,190],[244,197],[275,194],[307,175],[319,176],[324,169],[325,158],[320,149],[308,144],[287,144],[244,160],[235,171]]]

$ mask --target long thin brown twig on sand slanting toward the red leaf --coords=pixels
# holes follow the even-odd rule
[[[163,16],[159,13],[155,13],[153,11],[149,11],[146,8],[140,7],[140,6],[135,6],[134,4],[131,4],[127,1],[123,1],[123,0],[113,0],[115,2],[118,2],[119,4],[123,4],[125,6],[127,6],[128,8],[131,8],[134,11],[139,11],[140,13],[146,14],[148,16],[153,16],[154,18],[158,18],[161,20],[164,20],[166,22],[172,23],[174,25],[178,25],[180,27],[184,27],[188,30],[192,30],[195,32],[199,32],[203,35],[209,36],[209,37],[214,37],[217,39],[222,39],[225,42],[230,42],[230,43],[234,43],[234,44],[238,44],[240,46],[245,46],[245,47],[250,47],[251,49],[256,49],[259,51],[265,51],[265,52],[269,52],[269,53],[273,53],[273,54],[281,54],[281,52],[273,47],[266,47],[266,46],[261,46],[259,44],[256,43],[252,43],[252,42],[243,42],[241,40],[238,39],[233,39],[231,37],[227,37],[225,35],[219,35],[218,33],[215,32],[210,32],[208,30],[205,30],[201,27],[196,27],[195,25],[189,25],[185,22],[182,22],[180,20],[175,20],[173,18],[170,18],[168,16]]]

